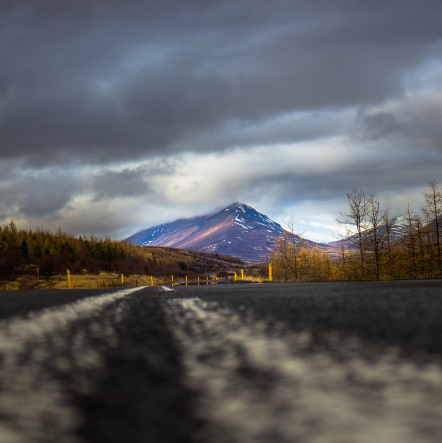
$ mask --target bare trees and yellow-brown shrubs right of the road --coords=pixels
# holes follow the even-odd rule
[[[298,280],[388,280],[442,277],[442,188],[434,180],[424,192],[420,212],[408,209],[398,226],[380,199],[356,187],[337,218],[347,229],[336,249],[307,249],[289,223],[272,257],[274,277]]]

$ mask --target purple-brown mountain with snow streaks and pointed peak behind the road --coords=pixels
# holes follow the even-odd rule
[[[258,263],[272,256],[274,245],[284,232],[279,223],[236,201],[206,216],[149,227],[128,237],[126,242],[138,246],[172,246],[220,253]],[[307,247],[326,247],[298,236],[295,239]]]

